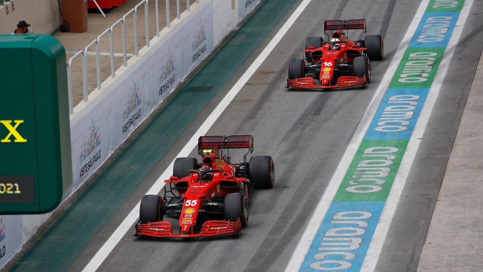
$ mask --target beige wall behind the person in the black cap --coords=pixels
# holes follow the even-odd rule
[[[33,33],[50,33],[60,26],[61,0],[14,0],[0,6],[0,33],[12,33],[20,21],[32,25]],[[14,6],[15,9],[12,9]],[[7,14],[7,8],[9,13]]]

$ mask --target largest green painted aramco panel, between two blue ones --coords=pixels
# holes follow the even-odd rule
[[[333,202],[385,201],[408,143],[409,140],[362,141]]]

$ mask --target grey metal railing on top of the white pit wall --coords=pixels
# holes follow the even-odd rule
[[[159,37],[159,12],[158,12],[158,0],[155,1],[156,7],[156,37]],[[199,3],[199,0],[196,0],[196,3]],[[148,14],[148,0],[142,0],[139,4],[137,4],[133,9],[131,9],[128,13],[126,13],[122,19],[119,19],[116,23],[114,23],[110,28],[106,29],[101,35],[98,36],[97,39],[92,41],[84,50],[78,51],[74,56],[72,56],[69,61],[67,62],[67,82],[68,82],[68,91],[69,91],[69,114],[73,113],[73,93],[72,93],[72,60],[74,60],[79,55],[82,57],[82,74],[83,74],[83,91],[84,91],[84,101],[88,102],[89,92],[88,92],[88,62],[87,62],[87,52],[89,48],[93,45],[96,45],[96,77],[97,77],[97,89],[102,89],[102,78],[101,78],[101,48],[100,48],[100,40],[101,38],[109,33],[109,45],[110,45],[110,55],[111,55],[111,77],[116,77],[116,66],[114,62],[114,37],[113,37],[113,29],[119,23],[122,25],[122,55],[123,55],[123,65],[127,66],[127,49],[126,49],[126,18],[128,15],[133,14],[134,18],[134,56],[139,56],[139,48],[138,48],[138,33],[137,33],[137,9],[144,5],[144,19],[145,19],[145,30],[146,30],[146,46],[149,47],[149,14]],[[177,18],[181,18],[181,8],[180,8],[180,0],[176,0],[177,5]],[[186,1],[187,11],[190,11],[190,0]],[[166,0],[166,22],[167,27],[171,28],[171,13],[170,13],[170,3],[169,0]]]

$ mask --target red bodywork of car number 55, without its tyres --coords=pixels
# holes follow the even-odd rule
[[[243,192],[245,199],[248,199],[250,190],[248,190],[247,178],[235,177],[235,173],[240,170],[239,165],[229,164],[227,162],[228,157],[223,155],[221,150],[240,148],[248,149],[247,154],[252,153],[253,136],[200,137],[198,150],[202,156],[202,161],[207,162],[205,160],[207,158],[212,160],[211,164],[207,165],[203,163],[203,166],[200,168],[210,167],[212,170],[217,171],[212,173],[212,179],[209,181],[202,180],[199,173],[195,172],[196,170],[190,170],[190,174],[187,177],[178,179],[176,176],[171,176],[170,179],[165,180],[166,183],[174,185],[170,187],[178,192],[181,197],[180,201],[183,201],[183,206],[179,213],[177,213],[180,215],[179,231],[173,231],[173,226],[168,221],[146,224],[140,224],[139,222],[136,225],[136,234],[154,237],[198,237],[238,234],[242,227],[240,219],[235,222],[229,222],[223,219],[203,220],[204,222],[200,224],[201,221],[198,222],[198,216],[200,212],[209,209],[210,207],[208,206],[216,205],[214,202],[216,201],[215,199],[222,199],[229,193]],[[244,159],[246,159],[246,156]],[[165,197],[164,201],[160,203],[160,206],[169,205],[166,200]],[[214,208],[216,210],[216,207]]]

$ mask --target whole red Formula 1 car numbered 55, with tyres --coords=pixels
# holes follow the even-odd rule
[[[230,162],[230,149],[248,149],[243,162]],[[223,153],[226,152],[226,154]],[[197,237],[238,234],[248,223],[248,203],[254,188],[272,188],[275,168],[270,156],[254,156],[253,136],[202,136],[196,158],[177,158],[173,176],[165,180],[164,196],[144,195],[139,209],[137,235]],[[163,221],[179,217],[179,227]]]

